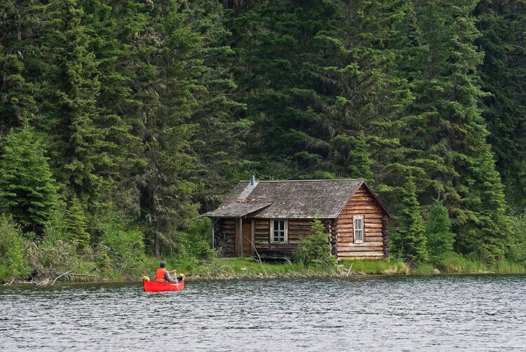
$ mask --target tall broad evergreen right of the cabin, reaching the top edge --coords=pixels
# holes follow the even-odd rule
[[[480,36],[471,16],[475,4],[429,0],[417,6],[419,41],[427,50],[414,60],[417,100],[401,135],[405,147],[422,151],[414,158],[426,170],[420,198],[424,204],[436,194],[443,198],[457,233],[455,249],[493,261],[501,257],[511,231],[477,106],[476,67],[483,54],[473,46]]]

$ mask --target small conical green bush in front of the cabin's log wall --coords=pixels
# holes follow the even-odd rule
[[[330,255],[331,245],[329,233],[324,233],[324,226],[319,219],[314,219],[311,234],[299,241],[296,259],[304,265],[335,264],[335,258]]]

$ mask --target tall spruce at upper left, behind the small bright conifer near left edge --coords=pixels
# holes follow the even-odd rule
[[[111,108],[99,106],[100,67],[104,65],[103,58],[94,53],[97,47],[90,36],[94,16],[86,18],[76,0],[52,1],[48,8],[43,48],[47,86],[43,89],[41,113],[45,118],[41,126],[50,139],[58,182],[65,184],[68,196],[86,202],[88,214],[93,215],[102,198],[112,194],[119,168],[128,164],[130,126],[112,114]],[[87,20],[92,22],[87,25]],[[111,74],[104,74],[104,79],[108,76]]]

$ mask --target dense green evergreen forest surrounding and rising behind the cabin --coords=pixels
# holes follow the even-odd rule
[[[392,259],[526,264],[526,0],[0,1],[0,280],[210,258],[250,175],[365,179]]]

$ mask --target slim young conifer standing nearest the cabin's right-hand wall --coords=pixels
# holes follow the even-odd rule
[[[402,210],[396,218],[398,226],[391,241],[393,252],[400,253],[405,262],[410,265],[426,262],[428,259],[424,221],[420,213],[416,191],[412,177],[408,177],[400,192]]]

